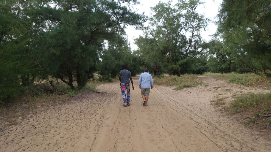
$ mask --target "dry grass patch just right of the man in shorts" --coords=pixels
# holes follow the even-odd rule
[[[191,74],[184,74],[180,76],[172,75],[171,77],[169,77],[169,75],[166,75],[160,78],[155,78],[153,81],[155,84],[158,85],[176,85],[175,90],[182,90],[183,88],[195,87],[197,85],[208,86],[207,84],[202,82],[202,79],[198,77],[198,75]]]

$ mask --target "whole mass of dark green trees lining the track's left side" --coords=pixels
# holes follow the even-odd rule
[[[38,90],[39,85],[47,91],[57,91],[54,78],[72,90],[83,88],[99,70],[105,40],[113,42],[124,36],[126,25],[138,25],[143,19],[143,15],[128,7],[134,4],[138,1],[0,1],[1,100],[21,94],[26,88]],[[126,52],[124,61],[129,61],[135,75],[138,57],[131,56],[127,43],[115,44],[126,47],[121,50]],[[116,51],[119,50],[110,54]],[[112,72],[115,66],[106,70],[111,71],[111,77],[118,72]]]

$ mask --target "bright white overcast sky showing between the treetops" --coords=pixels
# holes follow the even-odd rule
[[[142,14],[145,12],[145,15],[150,16],[151,15],[151,9],[150,7],[155,7],[156,4],[159,3],[159,0],[140,0],[140,5],[134,6],[134,10]],[[167,0],[162,0],[167,1]],[[204,1],[204,0],[203,0]],[[176,4],[177,0],[173,0],[172,4]],[[199,13],[204,13],[206,18],[209,18],[211,21],[216,21],[217,18],[215,18],[218,14],[219,6],[222,3],[222,0],[205,0],[205,3],[198,7]],[[214,23],[209,23],[206,31],[201,32],[201,36],[206,41],[211,40],[211,36],[216,32],[217,26]],[[135,38],[139,37],[139,35],[143,35],[143,31],[136,30],[133,26],[127,26],[127,29],[125,29],[125,32],[127,34],[128,41],[130,42],[131,50],[137,50],[137,45],[134,44]]]

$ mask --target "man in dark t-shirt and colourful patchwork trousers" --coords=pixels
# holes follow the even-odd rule
[[[119,72],[119,86],[122,91],[122,98],[124,102],[123,106],[130,105],[130,80],[131,80],[133,90],[134,90],[134,84],[133,84],[131,72],[128,71],[127,68],[128,66],[124,65],[123,70],[120,70]],[[126,90],[126,93],[125,93],[125,90]]]

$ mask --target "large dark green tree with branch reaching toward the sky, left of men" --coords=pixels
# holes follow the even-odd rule
[[[43,0],[30,2],[27,15],[43,27],[37,32],[35,53],[45,73],[75,88],[84,87],[96,72],[98,52],[125,25],[136,25],[141,15],[132,12],[136,0]]]

